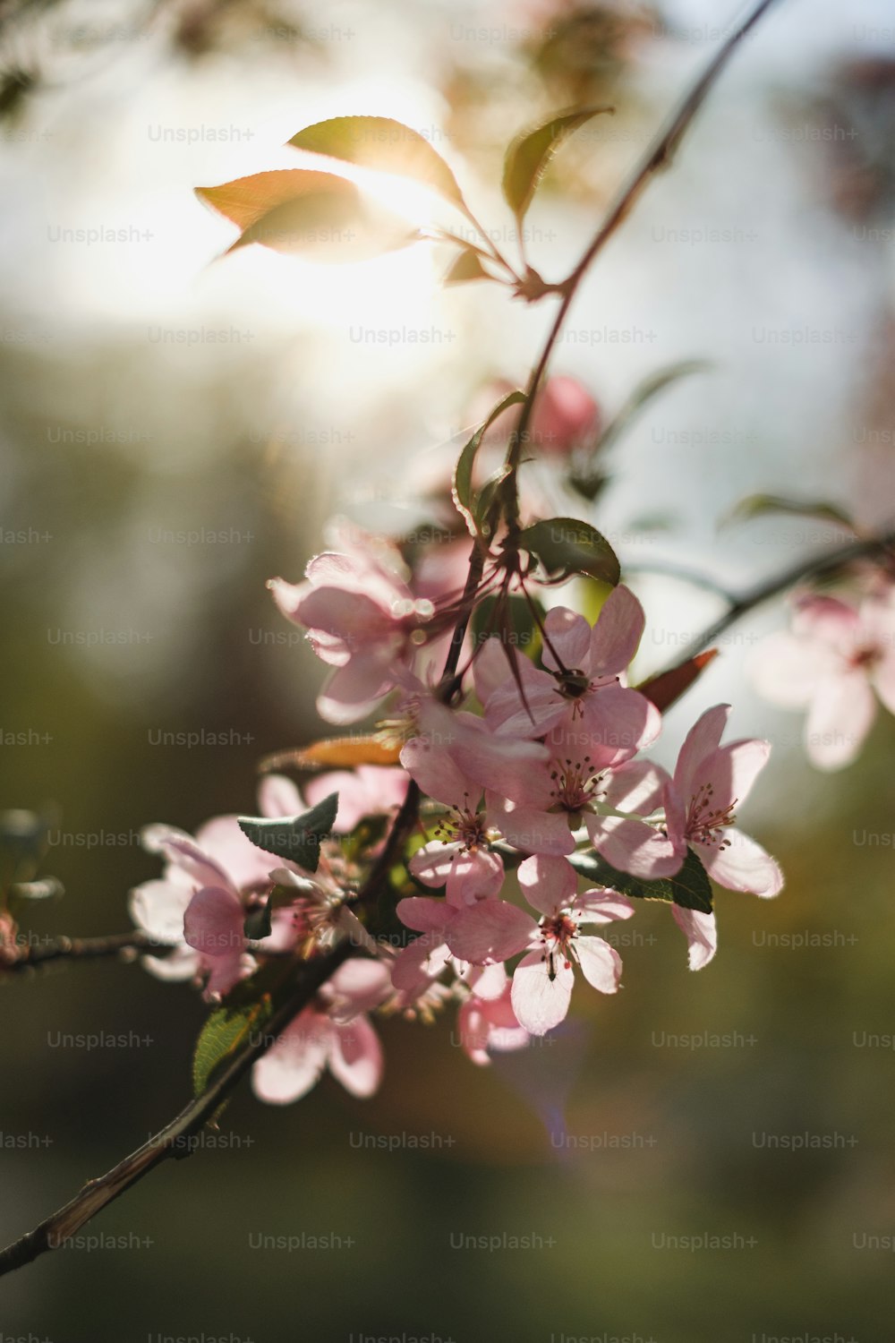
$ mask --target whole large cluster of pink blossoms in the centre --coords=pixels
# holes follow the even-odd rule
[[[454,1005],[467,1054],[486,1064],[558,1026],[577,971],[601,994],[619,990],[621,958],[600,929],[631,919],[643,897],[670,904],[699,970],[717,948],[711,882],[762,897],[782,886],[737,825],[769,744],[723,743],[730,706],[717,705],[664,770],[648,755],[660,709],[628,682],[645,623],[635,594],[612,587],[590,624],[541,604],[554,584],[534,565],[501,563],[491,548],[470,594],[452,559],[411,567],[399,545],[353,529],[303,582],[270,583],[329,667],[321,717],[345,727],[377,716],[376,732],[345,739],[357,744],[352,767],[314,776],[303,795],[282,775],[262,783],[262,818],[284,831],[338,795],[314,862],[236,817],[195,837],[145,831],[165,870],[136,888],[131,913],[170,948],[146,958],[154,974],[191,978],[227,1003],[260,967],[352,943],[255,1064],[263,1100],[305,1095],[326,1068],[370,1095],[382,1072],[377,1011],[429,1021]],[[510,592],[533,612],[525,651],[499,620],[475,638],[467,630],[476,606]],[[365,743],[376,744],[366,760]],[[390,908],[381,890],[365,898],[378,860]]]

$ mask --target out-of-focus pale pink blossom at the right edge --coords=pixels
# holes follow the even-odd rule
[[[860,751],[876,698],[895,713],[895,595],[802,596],[792,631],[772,634],[753,659],[757,686],[784,708],[808,708],[805,749],[821,770],[840,770]]]

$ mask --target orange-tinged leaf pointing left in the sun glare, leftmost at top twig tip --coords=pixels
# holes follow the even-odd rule
[[[262,243],[311,261],[364,261],[415,238],[405,220],[334,173],[276,169],[196,195],[242,230],[229,251]]]

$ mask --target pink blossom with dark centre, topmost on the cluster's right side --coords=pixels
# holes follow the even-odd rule
[[[640,602],[621,586],[607,599],[593,629],[582,615],[554,607],[545,620],[545,669],[517,657],[525,700],[506,662],[495,689],[484,678],[476,681],[487,694],[486,721],[501,733],[523,737],[577,732],[589,744],[612,747],[608,763],[629,760],[662,727],[655,705],[620,684],[643,627]],[[486,677],[492,677],[492,663],[494,654]]]

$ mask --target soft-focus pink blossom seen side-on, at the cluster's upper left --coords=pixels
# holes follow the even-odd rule
[[[299,584],[271,579],[268,587],[334,669],[317,701],[321,717],[357,723],[393,689],[396,666],[408,659],[411,637],[435,606],[413,595],[397,549],[373,537],[349,543],[346,553],[317,555],[305,576]]]

